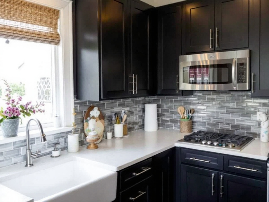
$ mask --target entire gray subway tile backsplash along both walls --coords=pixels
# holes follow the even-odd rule
[[[112,115],[122,109],[129,110],[126,120],[128,132],[144,128],[145,103],[157,103],[158,127],[180,130],[179,106],[194,108],[193,131],[206,130],[211,132],[231,133],[260,137],[260,124],[256,120],[257,110],[268,113],[269,99],[252,99],[250,92],[226,91],[194,91],[193,96],[151,96],[142,98],[126,98],[105,101],[75,100],[75,122],[79,133],[79,145],[85,145],[83,119],[90,106],[97,106],[105,117],[106,132],[113,131]],[[50,155],[53,142],[59,142],[58,148],[67,149],[67,134],[47,135],[47,142],[41,143],[40,138],[31,138],[32,151],[41,150],[40,156]],[[26,140],[1,144],[0,168],[25,161]]]

